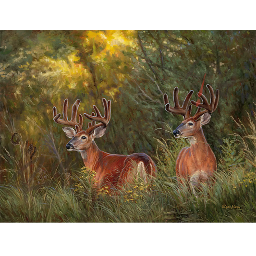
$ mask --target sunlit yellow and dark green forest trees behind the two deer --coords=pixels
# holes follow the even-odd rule
[[[69,111],[79,98],[79,113],[89,114],[93,105],[102,110],[102,98],[111,99],[111,121],[96,141],[99,148],[145,152],[160,177],[174,177],[177,154],[188,144],[173,139],[171,131],[183,119],[164,110],[163,94],[171,98],[178,86],[182,100],[193,89],[196,101],[204,77],[205,85],[220,91],[218,109],[204,127],[207,142],[219,164],[239,164],[242,146],[229,134],[242,136],[253,127],[255,36],[254,28],[1,28],[1,182],[10,182],[12,167],[24,158],[11,142],[14,133],[35,149],[37,183],[83,167],[80,154],[66,151],[69,139],[53,122],[52,107],[62,112],[65,98]],[[203,94],[209,98],[206,86]],[[252,170],[254,153],[249,160]]]

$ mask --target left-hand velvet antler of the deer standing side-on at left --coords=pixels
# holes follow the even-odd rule
[[[76,116],[77,116],[77,110],[80,105],[80,100],[77,99],[76,102],[73,104],[72,107],[72,116],[71,120],[68,120],[68,99],[66,98],[64,100],[63,104],[63,119],[60,119],[61,114],[57,114],[56,107],[53,107],[53,120],[56,123],[63,124],[63,125],[69,125],[76,129],[76,133],[79,133],[83,130],[83,116],[79,114],[79,122],[76,122]]]

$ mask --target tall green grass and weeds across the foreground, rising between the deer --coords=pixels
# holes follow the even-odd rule
[[[156,139],[158,177],[151,184],[139,180],[111,195],[92,185],[94,172],[86,168],[65,175],[60,167],[46,170],[38,164],[40,153],[31,158],[28,141],[16,134],[12,138],[16,150],[1,148],[9,168],[0,185],[0,223],[256,223],[254,122],[250,119],[250,127],[237,122],[241,134],[223,140],[216,183],[197,197],[175,177],[177,155],[188,145],[185,140]],[[171,127],[166,131],[171,133]]]

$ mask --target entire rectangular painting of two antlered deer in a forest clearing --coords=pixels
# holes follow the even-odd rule
[[[255,28],[1,28],[1,224],[254,224]]]

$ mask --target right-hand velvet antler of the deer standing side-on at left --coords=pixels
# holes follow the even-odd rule
[[[110,122],[111,118],[111,101],[107,101],[105,98],[102,99],[103,105],[104,105],[104,110],[105,114],[104,117],[101,116],[98,108],[94,105],[93,108],[96,112],[96,115],[94,112],[92,112],[92,115],[88,115],[84,113],[84,116],[91,120],[92,122],[88,123],[88,128],[85,131],[87,134],[91,134],[96,128],[100,126],[107,126],[108,123]],[[99,122],[96,124],[96,122]]]

